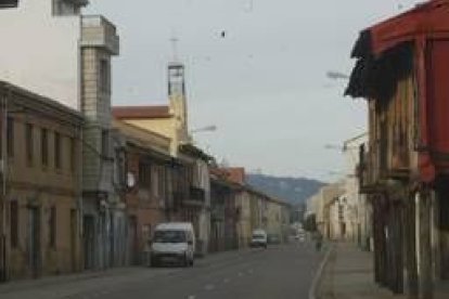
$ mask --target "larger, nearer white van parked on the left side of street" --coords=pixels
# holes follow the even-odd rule
[[[151,264],[179,262],[183,266],[193,265],[195,233],[192,223],[168,222],[156,226],[151,244]]]

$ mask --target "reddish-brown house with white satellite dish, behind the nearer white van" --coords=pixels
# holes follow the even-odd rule
[[[157,223],[172,218],[175,161],[170,141],[157,133],[115,120],[113,128],[125,140],[125,204],[127,262],[146,263],[152,233]]]

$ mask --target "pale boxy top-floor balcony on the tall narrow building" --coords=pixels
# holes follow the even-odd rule
[[[115,26],[101,15],[85,15],[81,21],[81,46],[104,48],[119,54],[119,37]]]

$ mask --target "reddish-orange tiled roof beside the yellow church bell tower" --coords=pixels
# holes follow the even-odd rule
[[[112,109],[116,119],[169,118],[168,106],[116,106]]]

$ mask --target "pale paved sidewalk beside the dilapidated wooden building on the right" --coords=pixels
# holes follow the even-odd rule
[[[374,283],[372,252],[338,243],[330,256],[318,292],[320,299],[406,299]],[[449,283],[437,285],[434,299],[449,298]]]

